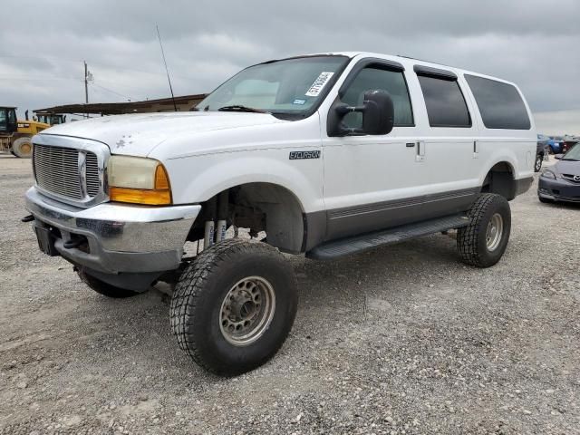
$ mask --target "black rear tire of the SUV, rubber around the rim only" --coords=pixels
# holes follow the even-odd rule
[[[502,235],[498,247],[488,249],[487,231],[491,218],[498,213],[503,219]],[[511,231],[511,210],[507,199],[493,193],[482,193],[469,208],[469,226],[458,229],[457,247],[464,263],[476,267],[489,267],[498,263],[506,251]]]

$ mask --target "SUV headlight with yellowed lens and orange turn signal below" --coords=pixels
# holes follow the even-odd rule
[[[171,204],[167,170],[158,160],[111,156],[108,175],[111,201],[153,206]]]

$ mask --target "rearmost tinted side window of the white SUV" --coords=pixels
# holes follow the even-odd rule
[[[465,74],[488,129],[529,130],[526,105],[511,84]]]

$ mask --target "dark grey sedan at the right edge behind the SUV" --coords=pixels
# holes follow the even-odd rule
[[[537,184],[537,197],[541,202],[580,203],[580,146],[575,146],[556,165],[544,169]]]

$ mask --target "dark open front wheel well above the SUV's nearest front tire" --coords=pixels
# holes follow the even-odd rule
[[[266,231],[266,241],[288,253],[304,250],[304,210],[294,193],[271,183],[247,183],[218,193],[201,204],[188,240],[204,238],[205,222],[224,219],[227,226]]]

